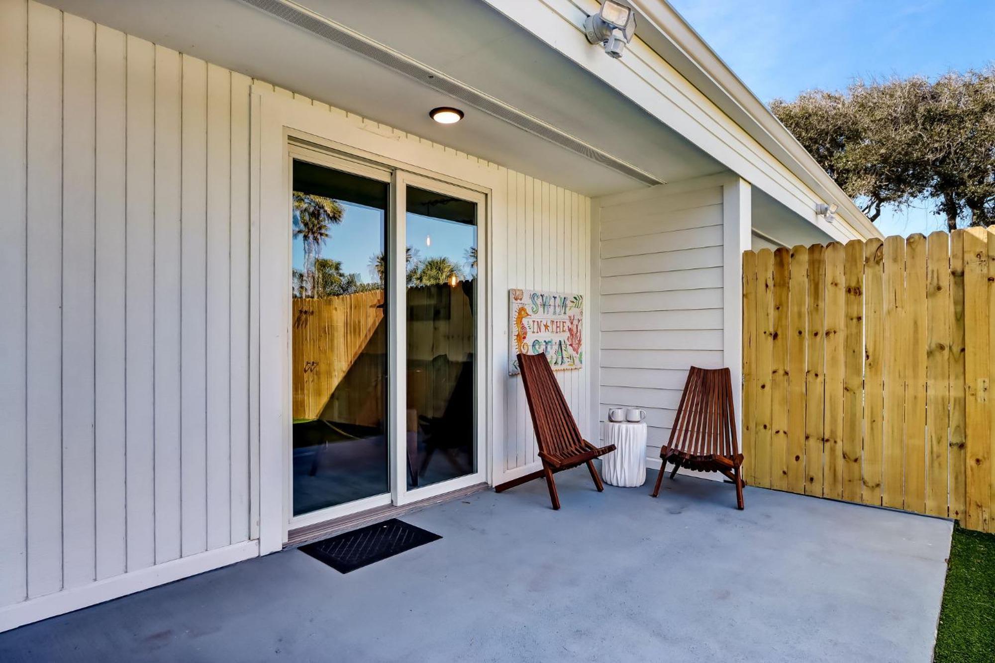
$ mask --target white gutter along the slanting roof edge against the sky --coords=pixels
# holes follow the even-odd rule
[[[711,50],[665,0],[629,0],[638,12],[636,34],[715,106],[739,124],[837,215],[867,237],[884,237],[867,215],[819,165],[798,139]]]

